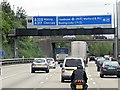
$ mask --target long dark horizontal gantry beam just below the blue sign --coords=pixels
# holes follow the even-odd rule
[[[16,29],[15,36],[64,36],[64,35],[95,35],[115,34],[115,28],[59,28],[59,29]]]

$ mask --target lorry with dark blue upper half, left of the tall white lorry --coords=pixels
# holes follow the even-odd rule
[[[63,63],[64,59],[68,57],[68,48],[61,47],[55,49],[56,54],[56,61],[58,61],[58,64]]]

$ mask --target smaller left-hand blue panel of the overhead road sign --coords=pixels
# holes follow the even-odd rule
[[[56,16],[34,16],[33,25],[39,26],[56,25]]]

